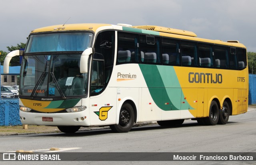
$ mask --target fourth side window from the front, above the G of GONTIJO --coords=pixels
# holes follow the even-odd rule
[[[182,65],[199,66],[197,42],[181,41]]]

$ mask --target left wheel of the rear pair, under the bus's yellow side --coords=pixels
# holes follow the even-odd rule
[[[219,107],[216,101],[212,100],[210,105],[209,117],[204,118],[204,124],[209,126],[215,126],[219,120]]]

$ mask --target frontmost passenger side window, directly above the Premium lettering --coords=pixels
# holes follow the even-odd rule
[[[118,32],[117,64],[139,63],[139,35]]]

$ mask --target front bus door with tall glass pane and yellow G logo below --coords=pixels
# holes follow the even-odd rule
[[[116,115],[113,106],[116,105],[116,92],[106,88],[104,83],[104,60],[95,59],[94,54],[90,72],[90,124],[114,124]],[[104,94],[103,94],[104,91]],[[114,102],[113,102],[114,101]]]

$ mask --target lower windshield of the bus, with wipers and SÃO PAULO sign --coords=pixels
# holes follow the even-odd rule
[[[87,74],[80,73],[80,54],[25,56],[20,96],[70,97],[86,95]]]

